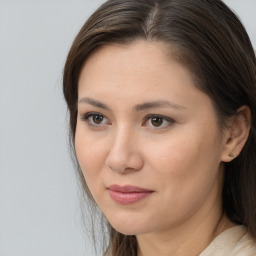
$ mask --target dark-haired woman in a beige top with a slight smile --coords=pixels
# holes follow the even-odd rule
[[[256,61],[222,1],[107,1],[63,86],[106,255],[256,255]]]

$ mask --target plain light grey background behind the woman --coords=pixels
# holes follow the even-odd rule
[[[102,0],[0,0],[0,256],[91,256],[67,150],[62,69]],[[256,48],[256,0],[225,1]]]

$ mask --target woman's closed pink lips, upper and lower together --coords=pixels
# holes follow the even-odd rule
[[[134,204],[149,195],[151,195],[154,191],[135,187],[135,186],[119,186],[119,185],[111,185],[108,188],[110,197],[118,204],[128,205]]]

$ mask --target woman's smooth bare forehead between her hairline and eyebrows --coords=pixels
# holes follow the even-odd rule
[[[138,40],[128,45],[104,45],[95,50],[82,68],[79,90],[105,86],[109,89],[115,86],[116,90],[120,87],[123,90],[161,89],[167,83],[194,84],[188,69],[171,57],[169,45]]]

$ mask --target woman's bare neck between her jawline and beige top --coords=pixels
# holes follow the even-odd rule
[[[138,256],[198,256],[226,229],[235,226],[223,214],[221,200],[201,209],[182,225],[137,235]]]

